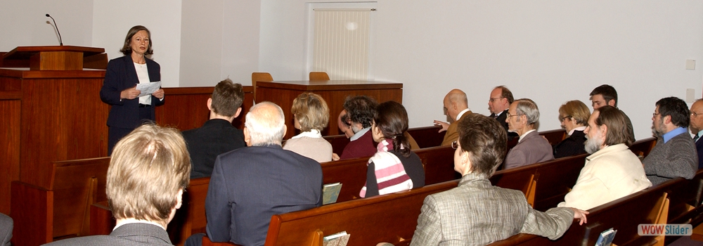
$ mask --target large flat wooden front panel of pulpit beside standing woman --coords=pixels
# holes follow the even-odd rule
[[[102,78],[23,79],[20,180],[48,188],[51,162],[107,155]]]

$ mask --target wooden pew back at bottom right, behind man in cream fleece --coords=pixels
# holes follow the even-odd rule
[[[662,183],[664,184],[664,183]],[[666,223],[669,200],[666,186],[648,188],[624,198],[590,209],[588,224],[576,221],[561,238],[549,240],[538,235],[517,234],[491,245],[595,245],[598,236],[608,228],[617,230],[615,245],[664,245],[663,237],[640,236],[639,224]]]

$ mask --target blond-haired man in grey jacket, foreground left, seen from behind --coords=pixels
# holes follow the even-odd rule
[[[120,139],[108,168],[108,203],[117,225],[49,245],[172,245],[166,226],[181,207],[191,175],[186,142],[176,129],[145,124]]]

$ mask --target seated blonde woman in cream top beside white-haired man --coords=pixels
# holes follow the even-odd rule
[[[301,132],[285,141],[283,149],[317,162],[331,161],[332,145],[320,133],[330,120],[330,110],[325,99],[316,93],[301,93],[293,100],[290,112],[293,114],[295,129]]]

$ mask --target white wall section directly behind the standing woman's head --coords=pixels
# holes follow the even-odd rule
[[[179,86],[181,1],[95,0],[93,6],[93,46],[118,58],[129,28],[143,25],[151,32],[151,58],[161,65],[162,86]]]

